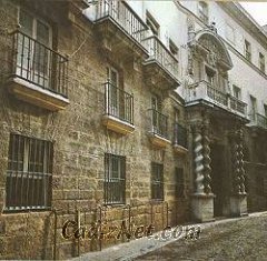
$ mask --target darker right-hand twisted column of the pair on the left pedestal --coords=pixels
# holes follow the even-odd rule
[[[205,120],[205,124],[204,124],[204,130],[202,130],[202,134],[204,134],[204,191],[205,193],[209,194],[211,193],[211,187],[210,187],[210,182],[211,182],[211,178],[210,178],[210,172],[211,172],[211,168],[210,168],[210,148],[209,148],[209,122],[208,120]]]

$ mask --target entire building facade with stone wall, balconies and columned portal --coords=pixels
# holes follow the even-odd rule
[[[0,19],[1,259],[267,208],[267,37],[238,4],[0,0]]]

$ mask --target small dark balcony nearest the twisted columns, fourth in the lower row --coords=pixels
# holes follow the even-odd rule
[[[175,133],[174,133],[174,149],[177,153],[186,153],[187,149],[187,130],[185,127],[179,123],[175,123]]]

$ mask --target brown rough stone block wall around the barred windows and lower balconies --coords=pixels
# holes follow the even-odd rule
[[[69,58],[69,99],[66,110],[49,112],[17,100],[8,92],[6,82],[10,76],[12,38],[17,28],[18,6],[47,19],[53,27],[53,48]],[[149,131],[150,98],[154,90],[145,84],[141,67],[132,62],[110,61],[100,49],[98,34],[90,21],[77,13],[70,21],[67,6],[61,1],[8,1],[0,0],[0,258],[52,259],[55,242],[58,259],[78,254],[77,240],[61,235],[67,220],[77,220],[81,211],[81,224],[89,225],[105,215],[92,210],[103,203],[103,155],[106,152],[126,155],[126,203],[132,207],[131,219],[136,224],[155,223],[156,230],[188,220],[189,169],[188,155],[175,154],[169,144],[165,151],[151,145]],[[135,127],[132,134],[121,137],[108,131],[101,122],[103,114],[103,82],[106,67],[111,63],[123,76],[123,88],[135,97]],[[157,87],[155,87],[157,88]],[[161,92],[159,92],[161,93]],[[169,135],[172,138],[174,107],[184,108],[178,100],[162,97],[162,112],[169,116]],[[8,147],[11,132],[55,141],[52,171],[52,209],[55,212],[4,212]],[[151,161],[164,163],[165,203],[150,202]],[[184,168],[186,198],[177,199],[175,168]],[[152,207],[151,207],[152,205]],[[120,223],[128,219],[121,207],[109,208],[107,222]],[[134,222],[134,221],[132,221]],[[55,233],[56,231],[56,233]],[[102,248],[120,242],[102,242]],[[99,250],[99,242],[81,241],[80,253]]]

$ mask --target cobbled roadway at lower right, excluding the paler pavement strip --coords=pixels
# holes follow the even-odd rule
[[[136,260],[267,260],[267,214],[215,223],[197,241],[178,240]]]

